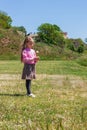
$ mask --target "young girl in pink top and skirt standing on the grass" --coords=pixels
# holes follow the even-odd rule
[[[35,79],[35,64],[39,60],[35,50],[32,49],[33,46],[34,40],[30,36],[26,36],[21,51],[21,61],[24,63],[22,79],[26,80],[27,96],[31,97],[35,97],[35,95],[31,93],[31,80]]]

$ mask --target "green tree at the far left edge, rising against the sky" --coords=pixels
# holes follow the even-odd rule
[[[12,19],[7,13],[0,11],[0,27],[8,29],[11,27]]]

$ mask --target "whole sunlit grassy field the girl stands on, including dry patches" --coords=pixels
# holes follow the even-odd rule
[[[40,61],[26,96],[20,61],[0,61],[0,130],[87,130],[87,67]]]

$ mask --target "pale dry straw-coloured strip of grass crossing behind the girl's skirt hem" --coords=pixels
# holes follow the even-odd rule
[[[47,75],[47,74],[37,74],[36,80],[49,80],[49,83],[60,86],[72,86],[72,87],[86,87],[87,79],[82,79],[77,76],[70,75]],[[20,74],[0,74],[0,86],[9,84],[9,82],[22,81]],[[15,82],[16,82],[15,81]]]

